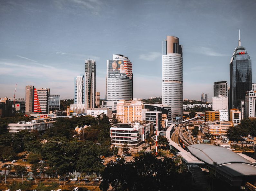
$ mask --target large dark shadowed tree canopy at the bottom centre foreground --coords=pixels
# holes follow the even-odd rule
[[[157,159],[152,154],[141,153],[132,162],[108,164],[102,173],[100,189],[128,190],[193,190],[191,175],[178,168],[170,158]],[[186,180],[186,184],[184,184]]]

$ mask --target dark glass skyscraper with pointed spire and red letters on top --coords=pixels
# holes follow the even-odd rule
[[[237,108],[245,94],[251,90],[251,58],[241,46],[240,30],[238,46],[235,48],[230,64],[230,108]]]

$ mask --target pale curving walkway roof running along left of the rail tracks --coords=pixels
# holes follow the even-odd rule
[[[172,145],[177,150],[177,155],[181,156],[186,164],[204,164],[204,162],[195,158],[192,154],[187,152],[185,149],[181,148],[180,145],[171,140],[171,130],[174,128],[175,124],[169,126],[166,130],[166,138],[169,142],[169,145]]]

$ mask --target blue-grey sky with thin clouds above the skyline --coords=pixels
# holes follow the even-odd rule
[[[1,0],[0,97],[25,96],[25,85],[73,98],[84,60],[97,64],[96,91],[105,97],[106,60],[133,62],[134,97],[162,94],[162,41],[183,45],[184,98],[211,101],[213,82],[227,80],[238,46],[252,60],[256,83],[256,1]]]

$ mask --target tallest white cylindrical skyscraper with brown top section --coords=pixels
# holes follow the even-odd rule
[[[162,102],[171,106],[171,120],[183,117],[183,58],[179,38],[167,36],[163,41]]]

